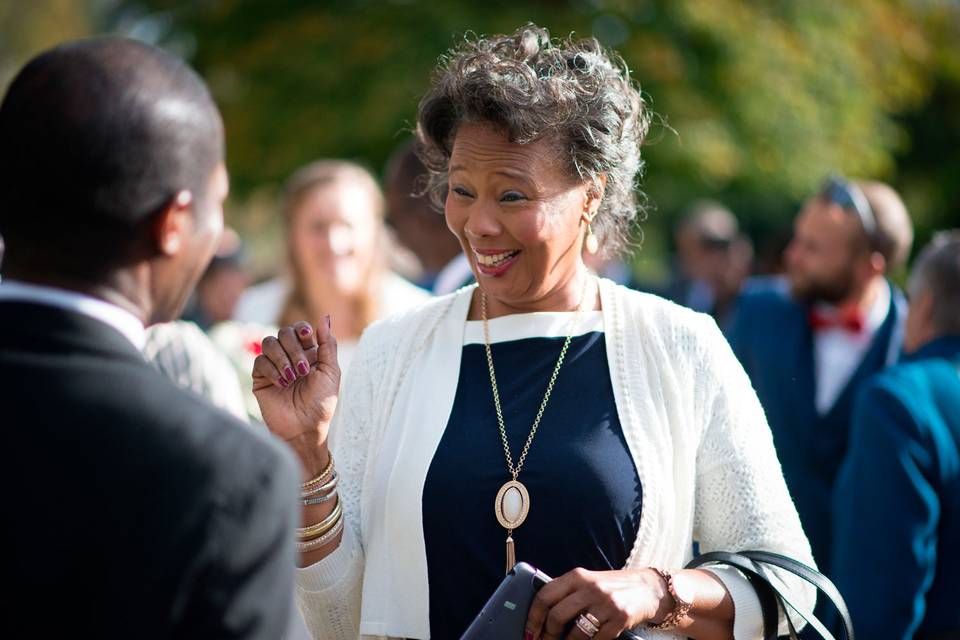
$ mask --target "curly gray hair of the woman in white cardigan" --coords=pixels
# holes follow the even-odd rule
[[[606,175],[594,233],[609,255],[628,247],[650,114],[620,56],[594,38],[551,40],[532,24],[452,49],[417,114],[428,191],[441,207],[463,122],[490,123],[519,144],[554,137],[572,178],[596,184]]]

